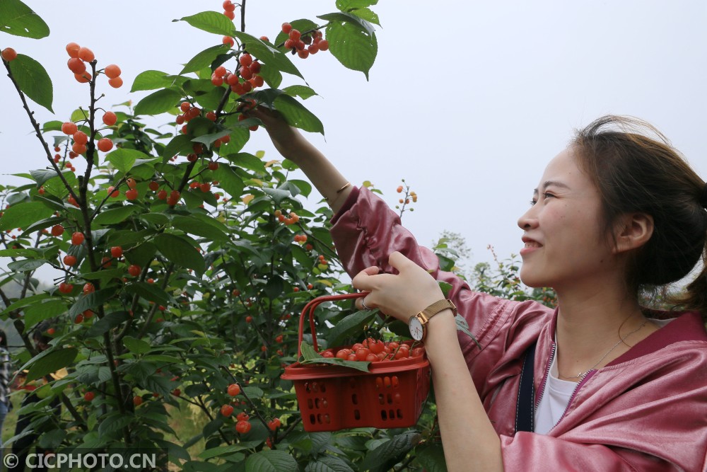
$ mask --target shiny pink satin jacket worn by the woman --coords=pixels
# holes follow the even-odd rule
[[[387,257],[400,251],[452,284],[450,298],[482,347],[460,333],[469,373],[501,437],[506,470],[707,470],[707,333],[699,313],[678,316],[592,370],[548,434],[514,434],[523,354],[537,340],[539,402],[554,350],[556,311],[473,292],[440,271],[436,255],[419,246],[397,214],[366,188],[354,189],[332,219],[332,236],[351,276],[373,265],[395,272]]]

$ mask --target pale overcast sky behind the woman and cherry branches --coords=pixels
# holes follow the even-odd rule
[[[25,1],[51,35],[0,35],[0,49],[34,57],[52,76],[56,115],[33,105],[40,121],[66,120],[88,100],[66,69],[67,42],[90,47],[99,67],[122,68],[123,88],[101,86],[103,106],[145,96],[129,93],[141,71],[176,74],[221,42],[172,22],[221,11],[220,1]],[[490,259],[489,244],[500,258],[517,254],[516,221],[545,164],[573,129],[604,114],[653,123],[707,178],[707,2],[389,0],[372,9],[381,27],[369,81],[328,52],[293,58],[319,93],[304,104],[326,136],[310,139],[352,183],[371,180],[392,204],[407,180],[419,202],[403,221],[424,245],[449,230],[467,239],[471,264]],[[333,0],[247,0],[246,30],[274,38],[283,21],[335,10]],[[283,86],[301,83],[286,77]],[[46,158],[6,78],[0,103],[1,183],[25,183],[8,174],[43,168]],[[276,158],[262,131],[244,150],[259,149]]]

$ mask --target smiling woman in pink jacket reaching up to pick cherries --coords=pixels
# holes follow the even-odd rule
[[[686,289],[684,311],[650,311],[638,295],[704,260],[707,185],[650,125],[602,117],[545,168],[518,220],[520,277],[555,290],[551,311],[472,292],[441,272],[378,197],[347,183],[274,113],[254,115],[332,206],[337,252],[354,287],[370,292],[358,306],[407,322],[444,299],[438,280],[452,284],[481,349],[457,338],[452,308],[437,306],[416,326],[450,471],[705,470],[707,269]],[[526,352],[534,399],[530,427],[518,427]]]

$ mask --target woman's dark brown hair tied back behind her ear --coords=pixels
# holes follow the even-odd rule
[[[599,189],[606,234],[623,214],[653,217],[653,235],[626,265],[629,290],[638,297],[642,289],[682,280],[701,261],[697,277],[672,302],[707,320],[704,180],[658,129],[634,117],[600,117],[576,132],[571,145]]]

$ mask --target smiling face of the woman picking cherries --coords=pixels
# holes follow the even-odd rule
[[[573,149],[549,162],[532,202],[518,219],[525,243],[520,250],[522,282],[556,290],[605,282],[607,271],[615,267],[601,230],[600,195],[578,167]]]

